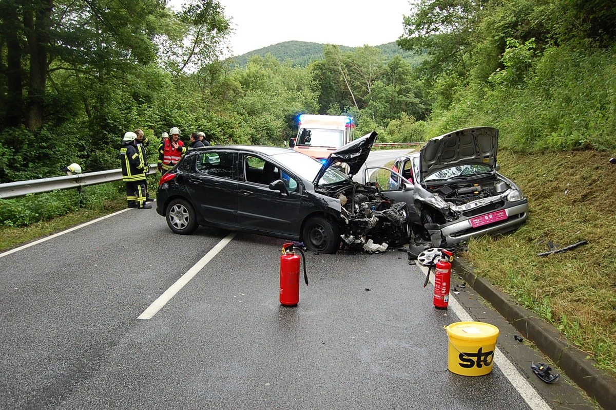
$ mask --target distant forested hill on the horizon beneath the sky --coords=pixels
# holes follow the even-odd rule
[[[245,67],[249,57],[253,55],[259,55],[264,57],[265,55],[272,54],[276,59],[281,62],[289,59],[293,62],[293,65],[298,67],[307,67],[313,61],[322,60],[325,55],[323,54],[323,46],[321,43],[308,43],[306,41],[284,41],[283,43],[273,44],[260,48],[258,50],[249,51],[245,54],[234,57],[235,65],[237,67]],[[356,47],[338,46],[342,52],[355,51]],[[395,41],[391,43],[381,44],[376,46],[381,50],[381,55],[385,60],[391,60],[394,55],[400,55],[411,65],[419,64],[420,59],[415,52],[404,51],[401,49]]]

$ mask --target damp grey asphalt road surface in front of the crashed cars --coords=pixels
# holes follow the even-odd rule
[[[447,370],[443,327],[466,318],[434,309],[405,252],[308,253],[290,308],[283,242],[131,209],[1,254],[0,408],[549,408],[504,356]]]

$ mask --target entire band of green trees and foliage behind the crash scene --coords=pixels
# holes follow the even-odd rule
[[[172,126],[282,145],[305,112],[352,115],[382,142],[487,125],[501,147],[614,150],[609,3],[421,0],[397,46],[290,41],[238,64],[221,59],[214,0],[0,0],[0,182],[117,168],[138,127],[153,146]]]

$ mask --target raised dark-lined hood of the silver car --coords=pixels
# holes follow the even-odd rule
[[[434,137],[419,154],[421,179],[456,165],[496,165],[498,129],[474,127],[458,129]]]

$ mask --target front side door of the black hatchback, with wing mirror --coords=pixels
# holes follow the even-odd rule
[[[302,186],[298,179],[267,157],[245,154],[240,159],[238,181],[238,223],[241,228],[275,236],[299,238]],[[270,182],[282,179],[286,193],[269,189]]]

